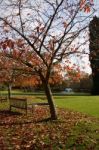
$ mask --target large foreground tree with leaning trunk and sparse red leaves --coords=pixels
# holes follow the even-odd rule
[[[52,119],[57,119],[57,112],[49,84],[50,75],[53,67],[63,59],[81,53],[79,47],[83,43],[79,42],[76,47],[74,43],[86,30],[88,17],[93,14],[93,11],[89,13],[91,2],[92,0],[1,2],[0,20],[4,31],[1,35],[1,49],[7,57],[23,63],[40,77]]]

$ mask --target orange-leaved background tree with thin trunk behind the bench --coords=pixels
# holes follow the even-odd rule
[[[32,75],[29,68],[26,68],[26,66],[14,59],[5,57],[5,54],[0,53],[0,83],[7,86],[9,99],[13,86],[24,84],[24,82],[25,85],[29,85],[29,80],[31,85],[33,85],[33,82],[35,82],[34,84],[36,85],[37,77]]]

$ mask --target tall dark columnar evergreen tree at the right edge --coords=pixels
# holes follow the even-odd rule
[[[89,49],[92,68],[92,95],[99,95],[99,18],[96,16],[89,24]]]

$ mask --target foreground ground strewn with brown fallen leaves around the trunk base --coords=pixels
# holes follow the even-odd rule
[[[99,121],[65,109],[58,109],[57,121],[46,120],[48,110],[33,114],[0,112],[2,149],[98,150]],[[94,122],[94,123],[93,123]]]

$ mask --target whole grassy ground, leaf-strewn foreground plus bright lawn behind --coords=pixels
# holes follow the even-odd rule
[[[27,96],[29,103],[44,101],[42,97]],[[99,117],[99,97],[54,99],[58,106],[57,121],[47,119],[50,114],[45,107],[25,115],[7,111],[8,102],[0,103],[0,150],[99,150],[99,119],[91,117]]]

